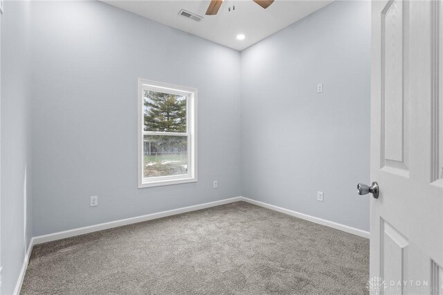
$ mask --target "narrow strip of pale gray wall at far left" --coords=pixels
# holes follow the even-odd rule
[[[29,8],[6,1],[1,17],[2,294],[12,294],[32,236]]]

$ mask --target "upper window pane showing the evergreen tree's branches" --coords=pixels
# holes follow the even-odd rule
[[[145,131],[186,132],[186,96],[143,90]]]

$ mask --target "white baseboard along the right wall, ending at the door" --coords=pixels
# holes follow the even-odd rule
[[[300,212],[292,211],[292,210],[289,210],[289,209],[281,208],[281,207],[274,206],[274,205],[271,205],[271,204],[266,204],[264,202],[255,201],[255,199],[249,199],[247,197],[240,197],[240,199],[242,201],[244,201],[244,202],[248,202],[248,203],[251,203],[251,204],[254,204],[254,205],[257,205],[257,206],[268,208],[268,209],[271,209],[273,211],[278,211],[280,213],[284,213],[284,214],[287,214],[287,215],[298,217],[298,218],[300,218],[302,220],[307,220],[307,221],[314,222],[314,223],[317,223],[317,224],[321,224],[321,225],[324,225],[324,226],[329,226],[329,227],[332,227],[333,229],[338,229],[340,231],[345,231],[346,233],[352,233],[353,235],[359,235],[360,237],[363,237],[363,238],[367,238],[367,239],[370,238],[370,233],[368,231],[362,231],[361,229],[355,229],[354,227],[347,226],[347,225],[344,225],[344,224],[339,224],[337,222],[332,222],[332,221],[329,221],[329,220],[323,220],[321,218],[314,217],[314,216],[311,216],[311,215],[307,215],[307,214],[303,214],[303,213],[300,213]]]

